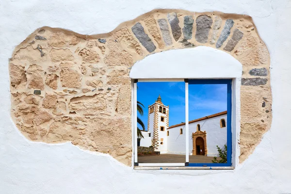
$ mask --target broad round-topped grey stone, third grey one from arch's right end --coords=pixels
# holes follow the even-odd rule
[[[207,43],[208,35],[212,25],[210,16],[201,15],[196,18],[196,41],[199,43]]]

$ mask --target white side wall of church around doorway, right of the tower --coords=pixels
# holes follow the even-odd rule
[[[206,141],[207,141],[207,156],[218,156],[216,145],[223,148],[227,143],[227,130],[225,128],[220,128],[220,120],[226,119],[226,114],[209,118],[206,120],[194,122],[189,124],[189,154],[192,155],[193,150],[193,138],[192,133],[196,132],[196,126],[200,125],[201,131],[206,131]],[[180,129],[183,129],[183,134],[180,135]],[[185,125],[178,126],[175,128],[168,129],[169,136],[167,137],[167,152],[173,154],[185,154]]]

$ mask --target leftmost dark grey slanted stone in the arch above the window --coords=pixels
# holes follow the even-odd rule
[[[148,52],[153,52],[156,49],[156,46],[152,42],[152,40],[148,37],[148,35],[145,32],[144,27],[141,23],[136,23],[131,28],[133,34],[135,37],[142,43],[142,45],[146,48]]]

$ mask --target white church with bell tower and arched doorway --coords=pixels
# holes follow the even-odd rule
[[[159,96],[148,106],[147,131],[140,146],[153,146],[161,154],[185,154],[185,139],[189,138],[189,154],[218,156],[217,147],[227,144],[227,112],[221,112],[189,121],[189,137],[186,137],[185,123],[169,127],[169,106]]]

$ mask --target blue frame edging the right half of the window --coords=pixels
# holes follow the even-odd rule
[[[187,81],[187,80],[185,80]],[[231,134],[231,79],[188,80],[188,84],[227,84],[227,163],[189,163],[187,166],[231,166],[232,134]]]

